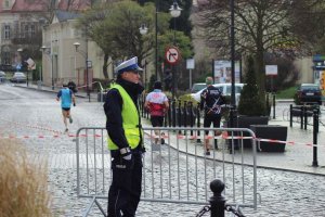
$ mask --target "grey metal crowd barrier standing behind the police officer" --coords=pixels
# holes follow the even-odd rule
[[[197,142],[204,141],[205,130],[209,130],[212,146],[209,156]],[[214,130],[222,130],[222,135],[212,136]],[[223,191],[227,204],[257,208],[257,148],[250,129],[161,127],[144,128],[144,132],[142,201],[208,204],[208,184],[218,178],[227,187]],[[243,137],[243,132],[250,136]],[[107,201],[112,181],[106,137],[106,129],[100,127],[77,131],[77,195],[91,199],[82,216],[88,216],[94,204],[106,216],[106,207],[99,202]],[[154,144],[155,139],[158,144]],[[160,144],[161,139],[165,144]],[[243,139],[251,140],[251,150],[244,151]],[[216,140],[214,145],[211,140]]]

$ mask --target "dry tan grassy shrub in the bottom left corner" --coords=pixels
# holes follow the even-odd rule
[[[30,158],[17,141],[0,140],[1,217],[52,216],[47,164]]]

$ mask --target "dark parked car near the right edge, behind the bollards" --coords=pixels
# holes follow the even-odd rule
[[[295,93],[295,101],[297,104],[322,104],[322,91],[318,85],[301,84],[298,86]]]

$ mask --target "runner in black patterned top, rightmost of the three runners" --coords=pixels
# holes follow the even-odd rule
[[[213,78],[207,77],[206,85],[207,88],[200,94],[200,110],[204,108],[205,118],[204,118],[204,127],[208,128],[213,123],[213,128],[220,127],[221,120],[221,105],[224,104],[225,99],[222,95],[222,92],[219,88],[213,87]],[[209,131],[207,130],[205,137],[205,154],[210,155],[210,144],[208,135]],[[214,132],[217,136],[219,132]],[[217,149],[217,146],[216,146]]]

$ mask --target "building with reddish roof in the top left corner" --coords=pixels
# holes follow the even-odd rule
[[[41,26],[50,1],[3,0],[0,3],[0,65],[15,68],[24,58],[39,58]],[[17,51],[22,51],[21,53]]]

